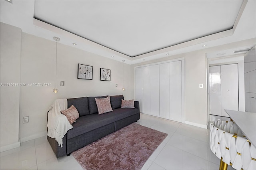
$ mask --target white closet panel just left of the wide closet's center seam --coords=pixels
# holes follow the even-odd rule
[[[150,114],[159,117],[159,65],[150,67]]]

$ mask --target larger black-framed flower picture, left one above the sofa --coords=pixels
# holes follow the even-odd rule
[[[78,64],[77,78],[92,80],[93,67],[90,65]]]

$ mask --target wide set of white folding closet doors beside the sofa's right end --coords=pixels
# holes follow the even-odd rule
[[[182,61],[136,68],[136,101],[140,111],[182,122]]]

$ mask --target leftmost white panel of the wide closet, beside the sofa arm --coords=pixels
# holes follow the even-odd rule
[[[143,100],[143,70],[144,67],[136,68],[136,84],[135,84],[135,100],[140,102],[140,111],[142,111],[142,100]]]

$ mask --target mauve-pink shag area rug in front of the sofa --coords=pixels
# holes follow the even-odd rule
[[[128,125],[72,153],[85,170],[140,170],[167,134]]]

